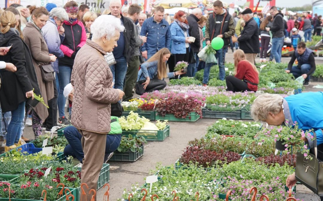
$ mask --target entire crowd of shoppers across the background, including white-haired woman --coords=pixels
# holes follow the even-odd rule
[[[128,101],[135,92],[161,90],[167,85],[164,78],[194,77],[201,69],[206,86],[216,64],[228,91],[257,91],[256,55],[265,62],[272,41],[271,59],[279,63],[286,37],[297,49],[286,73],[303,76],[308,85],[315,60],[298,32],[304,33],[305,42],[311,40],[312,31],[320,35],[321,16],[312,19],[306,13],[299,19],[281,14],[275,6],[265,18],[249,8],[230,15],[221,1],[213,5],[210,14],[195,8],[191,14],[178,11],[173,17],[161,6],[149,16],[140,5],[121,5],[120,0],[111,0],[102,14],[75,1],[63,8],[49,3],[1,9],[0,141],[5,142],[5,151],[29,141],[23,136],[25,125],[32,126],[37,138],[43,130],[55,132],[57,124],[72,123],[64,132],[70,143],[64,153],[82,164],[86,176],[81,183],[96,189],[93,178],[121,139],[110,104]],[[224,41],[216,50],[217,63],[200,61],[198,53],[216,37]],[[235,70],[234,76],[225,77],[229,48]],[[296,59],[298,65],[293,66]],[[182,61],[189,64],[187,71],[174,71]],[[38,96],[42,101],[35,99]],[[93,151],[93,147],[106,149]]]

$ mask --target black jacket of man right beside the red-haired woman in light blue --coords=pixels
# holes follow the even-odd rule
[[[200,21],[194,14],[190,14],[187,17],[188,25],[190,25],[190,28],[188,30],[188,33],[190,36],[193,36],[195,38],[195,41],[191,43],[191,48],[194,52],[199,52],[201,44],[200,44],[200,30],[199,25],[197,22]]]

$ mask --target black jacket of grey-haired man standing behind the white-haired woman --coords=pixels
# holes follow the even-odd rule
[[[123,26],[125,28],[123,31],[124,56],[127,62],[129,63],[131,57],[133,57],[135,53],[135,48],[136,48],[135,31],[134,31],[133,23],[130,21],[129,18],[123,17],[122,14],[121,14],[121,18],[123,20]]]

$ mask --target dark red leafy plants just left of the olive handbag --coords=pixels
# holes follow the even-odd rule
[[[268,167],[278,163],[280,166],[283,166],[287,163],[289,166],[296,167],[296,155],[295,154],[283,154],[283,155],[274,155],[259,157],[256,161],[261,161],[268,165]]]

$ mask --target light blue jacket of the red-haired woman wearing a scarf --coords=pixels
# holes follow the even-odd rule
[[[171,31],[171,53],[172,54],[186,54],[185,35],[182,28],[177,22],[170,25]],[[187,37],[189,37],[188,30],[186,30]]]

